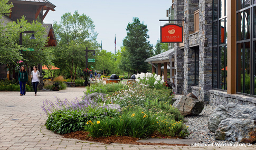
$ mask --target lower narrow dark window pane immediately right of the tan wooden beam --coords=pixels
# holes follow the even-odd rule
[[[241,92],[243,93],[243,44],[242,43],[239,43],[237,45],[237,49],[238,49],[238,52],[236,53],[237,54],[237,57],[238,57],[238,63],[237,63],[237,74],[238,74],[238,77],[237,77],[237,91],[238,92]]]

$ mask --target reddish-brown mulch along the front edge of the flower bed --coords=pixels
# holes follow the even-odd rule
[[[166,144],[166,143],[139,143],[136,142],[139,138],[130,137],[130,136],[107,136],[107,137],[91,137],[88,136],[89,132],[77,131],[68,134],[64,134],[65,138],[76,138],[80,140],[99,142],[104,144],[118,143],[118,144],[134,144],[134,145],[177,145],[177,146],[187,146],[186,144]],[[159,134],[153,134],[150,136],[151,138],[177,138],[164,136]]]

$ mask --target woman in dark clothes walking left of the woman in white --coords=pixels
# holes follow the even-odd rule
[[[29,79],[25,67],[21,66],[20,71],[18,72],[18,81],[20,82],[21,96],[26,94],[26,82]]]

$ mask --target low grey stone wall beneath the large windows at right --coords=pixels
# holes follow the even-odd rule
[[[254,97],[238,94],[227,94],[224,91],[222,92],[214,89],[209,90],[208,93],[210,95],[210,105],[212,106],[226,105],[228,103],[256,106],[256,98]]]

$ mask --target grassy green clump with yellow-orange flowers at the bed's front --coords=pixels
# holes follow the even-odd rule
[[[106,117],[87,122],[84,129],[93,137],[109,135],[147,137],[153,134],[156,127],[156,116],[149,112],[144,113],[139,109],[136,112],[124,113],[119,117]]]

